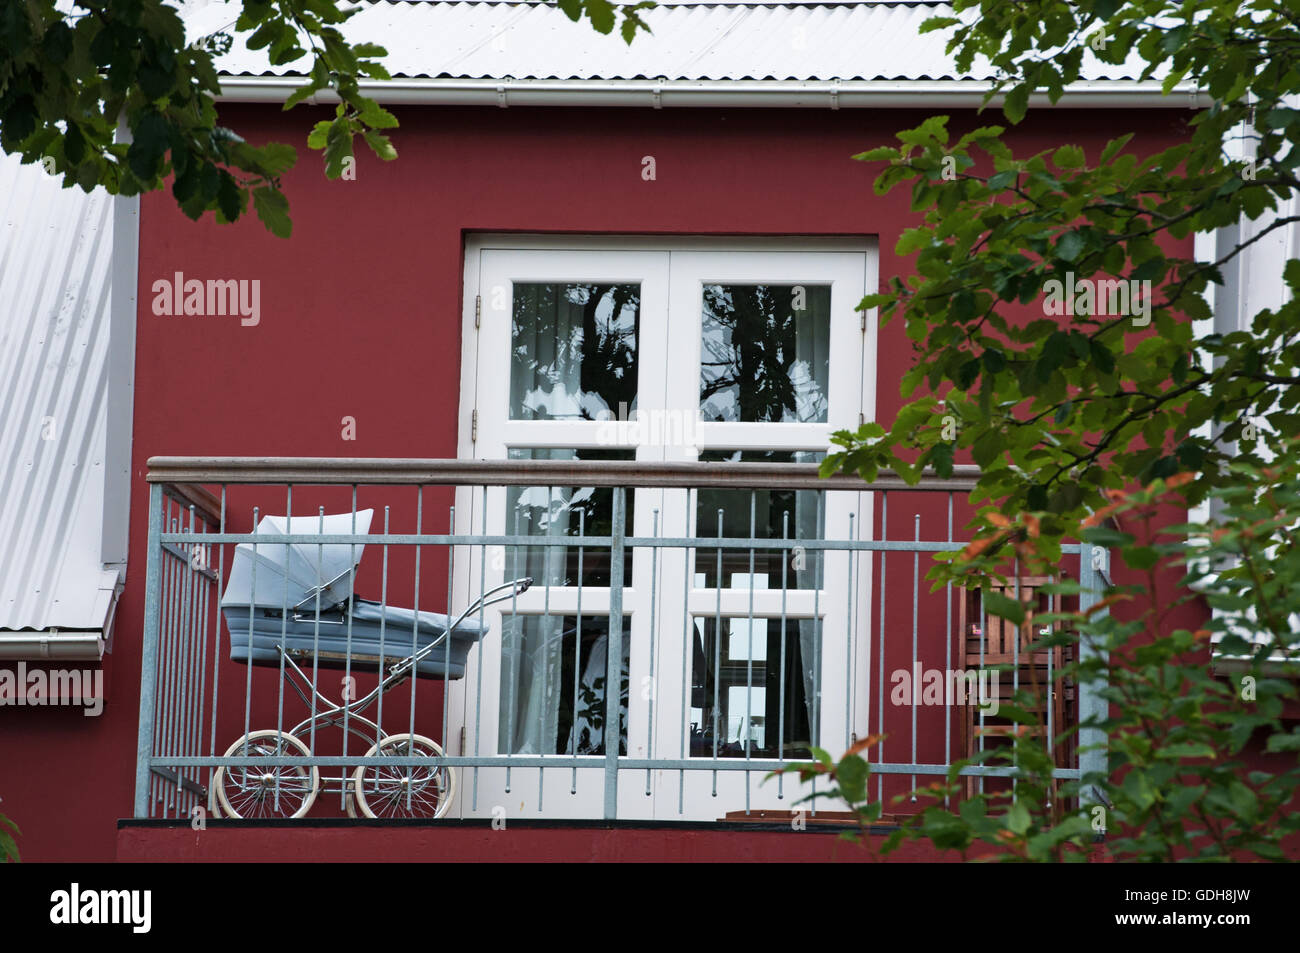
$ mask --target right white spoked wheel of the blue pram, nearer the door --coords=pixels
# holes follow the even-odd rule
[[[442,749],[424,735],[389,735],[365,753],[374,757],[441,758]],[[430,764],[360,766],[352,779],[356,806],[365,818],[441,818],[456,796],[454,768]]]

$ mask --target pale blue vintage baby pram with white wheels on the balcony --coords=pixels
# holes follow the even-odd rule
[[[373,510],[333,516],[266,516],[254,530],[266,542],[239,543],[221,597],[230,631],[234,662],[280,667],[285,681],[308,709],[304,720],[287,731],[248,731],[226,750],[228,758],[307,757],[303,732],[322,725],[346,728],[364,740],[365,757],[441,758],[432,738],[411,732],[387,733],[364,712],[385,692],[412,673],[417,677],[460,679],[469,649],[488,633],[471,619],[481,607],[512,598],[532,585],[511,580],[489,589],[450,620],[438,612],[416,611],[361,599],[352,592],[360,543],[285,543],[282,536],[337,536],[369,532]],[[354,523],[355,520],[355,523]],[[354,528],[355,527],[355,528]],[[450,636],[450,638],[448,638]],[[364,697],[342,680],[341,702],[321,694],[312,673],[320,668],[378,671],[380,683]],[[315,702],[315,703],[313,703]],[[350,792],[350,816],[439,818],[451,807],[456,789],[452,767],[424,764],[359,766],[348,775],[324,779],[328,790]],[[217,810],[231,818],[304,816],[322,789],[316,766],[220,767],[212,788]],[[354,806],[355,802],[355,806]]]

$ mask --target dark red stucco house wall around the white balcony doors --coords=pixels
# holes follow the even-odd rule
[[[166,192],[143,200],[130,569],[113,651],[104,663],[108,703],[98,719],[70,710],[0,711],[0,811],[22,827],[26,858],[112,859],[114,822],[131,813],[146,460],[159,454],[454,456],[467,231],[879,235],[881,285],[906,270],[893,246],[913,220],[907,190],[874,195],[872,169],[850,156],[892,142],[896,130],[919,124],[924,113],[395,112],[402,121],[394,138],[400,160],[384,164],[363,152],[356,181],[330,182],[318,155],[304,146],[307,130],[325,111],[224,111],[225,121],[248,139],[274,134],[300,148],[299,166],[285,183],[292,203],[291,241],[273,238],[251,215],[235,226],[217,226],[211,218],[194,224]],[[1010,140],[1017,152],[1062,142],[1092,151],[1114,135],[1138,131],[1135,147],[1154,151],[1180,138],[1187,116],[1171,109],[1040,111]],[[974,114],[959,117],[959,125],[975,124]],[[653,182],[641,178],[647,155],[656,163]],[[260,280],[260,324],[155,316],[152,282],[170,280],[174,272]],[[876,406],[883,421],[901,404],[897,381],[909,360],[902,325],[890,324],[880,334]],[[343,416],[356,419],[355,442],[341,439]],[[892,532],[910,536],[918,510],[900,501],[890,504]],[[246,507],[252,502],[248,494],[233,494],[235,530],[251,527]],[[295,512],[315,512],[317,502],[326,499],[304,491],[295,497]],[[413,495],[382,502],[394,504],[395,524],[413,525]],[[425,514],[436,516],[426,519],[445,520],[448,502],[428,497]],[[936,529],[942,525],[937,511],[926,519]],[[958,529],[965,521],[958,511]],[[910,558],[907,563],[910,572]],[[432,605],[421,601],[421,607],[442,607],[443,572],[426,555],[422,589],[433,595]],[[910,612],[910,599],[896,599],[894,606],[894,612]],[[910,631],[910,618],[890,620]],[[887,660],[890,670],[905,664],[901,657]],[[421,706],[441,707],[437,685],[421,690]],[[940,736],[927,741],[922,761],[935,757],[935,745],[941,754]],[[286,849],[274,837],[263,842],[268,857]],[[540,854],[551,849],[547,837],[528,842]],[[124,844],[126,857],[150,855],[139,833]],[[178,850],[185,849],[173,845],[168,855]]]

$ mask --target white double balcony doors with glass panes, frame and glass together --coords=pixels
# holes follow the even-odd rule
[[[874,416],[875,289],[862,243],[476,239],[465,255],[462,458],[815,462],[833,430]],[[458,532],[602,536],[612,490],[511,488],[458,495]],[[636,536],[698,546],[624,562],[624,715],[630,758],[797,758],[866,728],[868,560],[750,554],[707,540],[870,533],[868,494],[637,489]],[[480,580],[532,576],[494,614],[478,663],[452,685],[455,754],[603,755],[608,553],[529,546],[459,560],[462,601]],[[784,619],[784,624],[783,624]],[[464,816],[598,816],[592,771],[481,770]],[[712,819],[789,807],[738,772],[625,771],[620,816]],[[646,788],[650,794],[646,794]],[[576,788],[577,793],[573,793]],[[716,794],[715,794],[716,790]],[[506,801],[508,800],[508,805]],[[538,810],[541,805],[542,810]]]

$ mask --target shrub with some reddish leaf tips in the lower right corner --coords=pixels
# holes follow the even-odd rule
[[[1105,599],[1083,612],[1036,616],[1066,627],[1028,651],[1076,642],[1087,651],[1062,675],[1105,685],[1100,694],[1109,714],[1084,719],[1080,727],[1105,732],[1108,770],[1078,781],[1053,781],[1056,764],[1046,746],[1026,732],[1010,746],[956,763],[942,781],[918,790],[920,813],[887,839],[885,853],[905,839],[924,837],[963,855],[983,842],[1001,859],[1070,861],[1084,859],[1088,844],[1106,833],[1109,850],[1121,859],[1284,859],[1283,841],[1300,832],[1294,805],[1300,789],[1300,729],[1283,722],[1283,705],[1295,703],[1296,688],[1271,675],[1270,657],[1300,657],[1300,633],[1286,612],[1258,619],[1251,612],[1265,603],[1300,607],[1300,452],[1277,467],[1234,469],[1243,482],[1213,491],[1225,506],[1213,524],[1162,525],[1170,503],[1182,503],[1176,488],[1186,478],[1113,491],[1112,502],[1082,530],[1083,538],[1113,546],[1141,572],[1143,582],[1112,586]],[[1123,528],[1104,525],[1108,520]],[[1036,532],[1032,517],[998,532],[1015,540],[1017,554],[1030,560],[1031,571],[1046,571],[1030,542]],[[972,543],[967,554],[976,547]],[[1171,568],[1182,577],[1173,592],[1164,592],[1161,580],[1167,581]],[[972,555],[972,573],[994,569],[983,555]],[[1052,589],[1071,595],[1079,584]],[[1195,632],[1169,632],[1169,615],[1197,593],[1222,614]],[[1131,610],[1123,618],[1108,611],[1119,605]],[[994,614],[1013,620],[1015,615],[1010,607]],[[1249,641],[1243,637],[1247,631]],[[1230,677],[1210,671],[1212,640],[1227,659],[1221,664],[1236,663]],[[1019,720],[1041,729],[1030,714],[1035,693],[1026,688],[1013,701]],[[1061,732],[1057,744],[1075,731]],[[1088,750],[1088,738],[1083,740]],[[836,785],[831,794],[845,800],[864,824],[874,823],[889,806],[870,798],[870,764],[861,753],[876,741],[858,742],[838,763],[819,751],[816,762],[788,771],[803,780],[828,776]],[[1247,761],[1251,742],[1262,742],[1264,764]],[[984,793],[962,800],[959,772],[971,764],[1013,768],[1014,789],[988,781]],[[1062,807],[1080,796],[1086,810]]]

